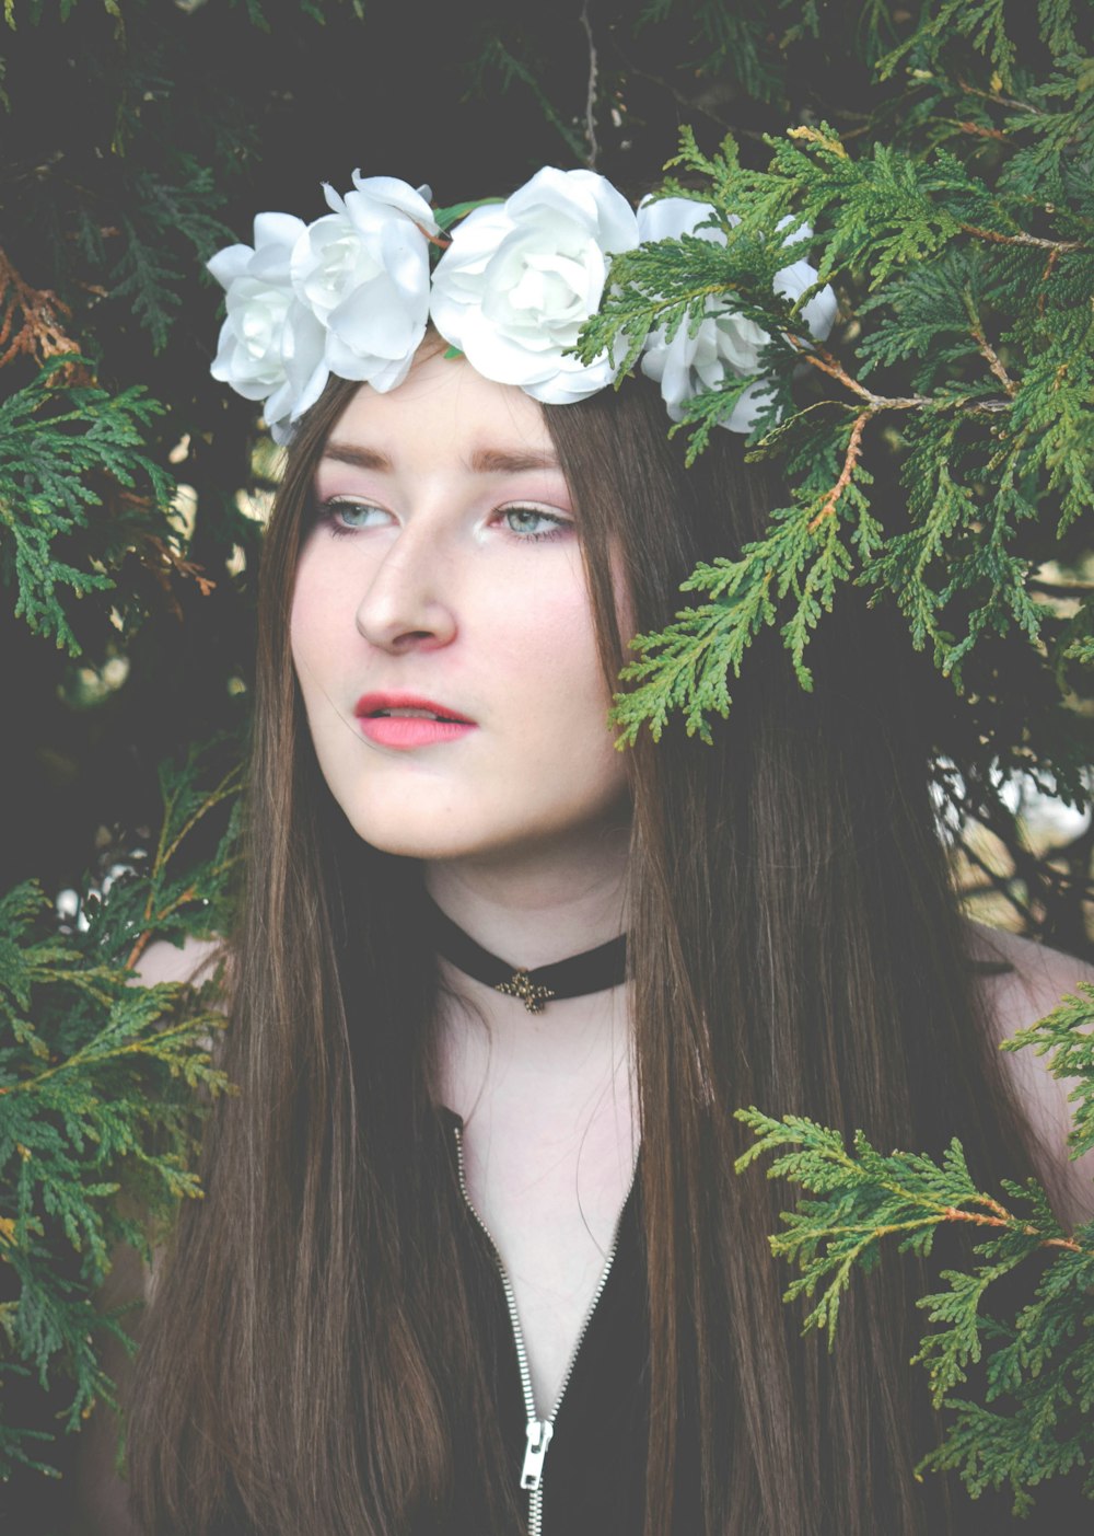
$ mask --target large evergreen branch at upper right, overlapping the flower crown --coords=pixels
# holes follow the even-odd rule
[[[1094,112],[1083,103],[1068,141],[1082,158],[1092,137]],[[1017,152],[1026,147],[1019,132],[1014,140]],[[707,602],[638,637],[638,657],[623,673],[637,687],[615,700],[631,742],[643,725],[660,736],[677,710],[689,733],[709,739],[707,716],[727,714],[727,676],[740,676],[764,625],[781,627],[809,688],[809,641],[849,581],[896,602],[916,648],[928,647],[957,687],[985,636],[1033,642],[1051,673],[1076,641],[1074,619],[1060,622],[1030,591],[1023,524],[1054,524],[1063,539],[1094,508],[1089,183],[1077,167],[1059,170],[1063,201],[1031,209],[1025,163],[991,186],[941,146],[918,157],[875,143],[852,157],[825,123],[769,143],[770,166],[750,170],[732,140],[706,155],[683,132],[675,164],[690,175],[664,190],[712,203],[724,246],[663,240],[617,257],[615,290],[578,349],[592,358],[626,346],[634,362],[652,326],[669,335],[697,327],[713,296],[772,335],[763,369],[779,381],[753,452],[786,459],[793,499],[772,510],[763,539],[698,567],[684,590]],[[786,220],[798,227],[789,241]],[[772,289],[775,272],[810,246],[822,250],[818,283],[855,292],[859,336],[845,358],[812,346],[799,318],[809,293],[792,304]],[[795,401],[799,372],[809,378]],[[865,382],[878,372],[884,389]],[[692,456],[760,376],[689,402]],[[885,419],[905,493],[888,519],[865,462],[867,433]],[[1040,548],[1053,558],[1043,538]],[[1088,594],[1079,625],[1089,608]],[[1082,799],[1082,776],[1054,766]]]

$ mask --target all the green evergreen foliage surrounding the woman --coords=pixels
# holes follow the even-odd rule
[[[6,746],[20,814],[0,846],[0,1476],[61,1470],[63,1436],[41,1436],[110,1401],[101,1346],[127,1335],[97,1286],[198,1193],[198,1121],[226,1086],[212,995],[130,985],[152,937],[227,926],[232,748],[161,785],[155,763],[244,723],[261,551],[244,493],[261,505],[276,478],[253,413],[207,375],[204,258],[262,207],[322,212],[319,183],[358,164],[428,180],[451,218],[559,160],[643,190],[690,121],[664,190],[712,201],[726,244],[620,257],[583,346],[634,364],[654,321],[694,326],[724,295],[770,336],[750,452],[779,459],[787,498],[637,642],[621,739],[706,737],[769,627],[809,687],[812,636],[855,584],[962,693],[937,785],[979,889],[1091,955],[1094,831],[1037,857],[1007,788],[1089,805],[1092,31],[1082,0],[5,0],[0,690],[29,725]],[[839,295],[825,347],[772,292],[798,255]],[[692,455],[747,384],[692,402]],[[49,899],[97,846],[100,872],[132,871],[92,880],[87,926],[58,929]],[[1091,1021],[1080,989],[1016,1041],[1079,1081],[1076,1155],[1094,1146]],[[959,1141],[885,1157],[743,1118],[743,1163],[772,1150],[807,1192],[773,1243],[812,1329],[832,1335],[888,1236],[928,1255],[941,1229],[980,1233],[924,1298],[947,1424],[924,1471],[1028,1508],[1089,1462],[1089,1227],[1060,1232],[1034,1187],[984,1192]],[[1020,1267],[1031,1299],[991,1315]]]

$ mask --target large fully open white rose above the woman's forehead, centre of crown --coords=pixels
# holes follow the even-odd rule
[[[548,166],[456,226],[433,273],[433,323],[486,378],[551,406],[583,399],[615,362],[563,353],[600,304],[609,253],[637,243],[634,210],[605,177]]]

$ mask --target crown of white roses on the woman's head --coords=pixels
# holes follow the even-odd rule
[[[721,229],[700,227],[713,214],[709,204],[646,198],[635,214],[594,170],[548,166],[505,203],[471,204],[450,237],[428,187],[354,170],[353,192],[324,192],[330,214],[311,224],[259,214],[253,247],[229,246],[209,263],[227,290],[213,378],[264,402],[276,442],[288,441],[331,373],[381,393],[400,384],[428,321],[483,378],[551,406],[585,399],[620,370],[608,352],[585,364],[571,350],[600,306],[611,255],[681,235],[726,241]],[[775,275],[775,292],[796,300],[816,275],[793,261]],[[802,307],[816,339],[835,315],[830,287]],[[681,324],[672,338],[664,327],[649,333],[641,372],[660,382],[680,421],[694,395],[758,373],[769,339],[732,303],[712,296],[698,326]],[[721,425],[750,432],[769,402],[770,386],[758,378]]]

